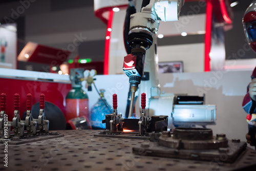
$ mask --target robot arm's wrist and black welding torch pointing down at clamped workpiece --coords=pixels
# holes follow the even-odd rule
[[[143,5],[147,1],[143,1]],[[135,92],[138,89],[144,73],[145,54],[153,43],[153,34],[159,27],[159,20],[174,21],[179,19],[184,0],[150,0],[149,4],[131,15],[130,32],[127,42],[131,54],[124,57],[123,71],[129,77],[131,84],[131,105],[129,117],[134,108]]]

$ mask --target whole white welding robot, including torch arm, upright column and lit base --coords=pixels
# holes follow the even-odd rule
[[[175,118],[175,123],[201,123],[202,126],[215,124],[215,105],[195,105],[195,103],[193,105],[188,105],[191,103],[175,105],[175,101],[182,97],[177,98],[173,93],[160,93],[160,84],[157,78],[158,56],[156,53],[156,33],[159,21],[178,20],[184,0],[143,0],[141,11],[131,14],[131,11],[136,11],[134,2],[136,1],[129,1],[126,11],[125,25],[130,25],[130,28],[126,29],[127,37],[125,37],[124,28],[124,41],[127,42],[128,55],[124,57],[123,71],[129,77],[131,89],[129,115],[126,117],[133,116],[135,93],[140,84],[139,94],[146,93],[147,95],[147,115],[168,115],[169,128],[174,123],[170,118],[171,115],[172,118]],[[196,99],[198,98],[200,99],[200,97],[196,97]],[[199,100],[199,104],[203,104],[202,99]],[[189,115],[191,111],[198,114],[197,117],[193,118],[194,120],[189,120],[191,118],[185,116],[186,113]]]

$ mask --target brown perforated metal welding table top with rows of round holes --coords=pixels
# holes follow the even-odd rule
[[[141,144],[146,151],[157,148],[157,143],[148,140],[94,137],[94,134],[98,134],[95,130],[66,130],[58,133],[64,137],[20,145],[8,144],[8,168],[3,163],[0,164],[0,170],[227,171],[255,170],[256,167],[256,152],[249,147],[236,162],[223,162],[226,153],[209,162],[144,156],[145,151],[138,155],[132,154],[132,148],[140,148]],[[4,149],[5,144],[0,144],[0,148]],[[0,157],[5,157],[4,150]]]

